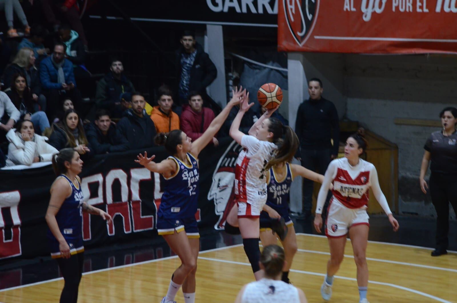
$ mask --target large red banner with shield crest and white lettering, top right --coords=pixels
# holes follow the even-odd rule
[[[457,53],[457,0],[278,0],[278,50]]]

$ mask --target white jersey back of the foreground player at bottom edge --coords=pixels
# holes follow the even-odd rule
[[[298,290],[292,284],[263,278],[246,285],[242,303],[300,303]]]

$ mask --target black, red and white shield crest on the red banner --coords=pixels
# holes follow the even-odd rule
[[[282,0],[287,27],[298,45],[308,40],[319,12],[320,0]]]

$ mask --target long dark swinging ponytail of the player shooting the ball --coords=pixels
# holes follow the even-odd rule
[[[279,119],[268,118],[268,131],[273,133],[272,142],[278,146],[276,155],[267,164],[265,169],[282,163],[291,162],[298,148],[298,137],[289,126],[283,125]]]

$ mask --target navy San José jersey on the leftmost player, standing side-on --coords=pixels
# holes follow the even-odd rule
[[[83,193],[81,190],[81,184],[78,182],[78,188],[76,188],[67,176],[60,175],[58,178],[65,178],[69,182],[71,186],[71,194],[64,200],[62,206],[60,206],[60,209],[56,214],[56,221],[60,232],[70,247],[70,253],[77,254],[84,251],[82,234]],[[53,258],[60,257],[58,241],[51,233],[50,229],[48,229],[48,239],[51,248],[51,256]]]

